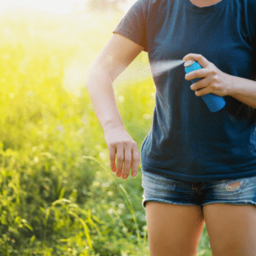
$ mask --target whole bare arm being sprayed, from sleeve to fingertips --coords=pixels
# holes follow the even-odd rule
[[[113,81],[142,50],[143,46],[119,34],[113,34],[91,65],[86,79],[92,107],[108,144],[111,169],[116,172],[117,177],[122,175],[124,179],[129,176],[130,168],[132,177],[137,175],[140,155],[137,143],[125,131],[114,97]]]

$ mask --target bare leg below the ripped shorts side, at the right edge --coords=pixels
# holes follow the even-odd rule
[[[256,207],[209,204],[203,207],[212,256],[256,255]]]

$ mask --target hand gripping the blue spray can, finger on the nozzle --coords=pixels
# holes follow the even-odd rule
[[[212,62],[202,55],[189,54],[183,57],[183,61],[194,60],[201,65],[201,69],[187,73],[186,80],[199,79],[195,84],[190,86],[191,90],[195,90],[196,96],[202,96],[208,93],[214,93],[218,96],[230,95],[233,77],[227,73],[223,73]],[[201,90],[199,90],[201,89]]]

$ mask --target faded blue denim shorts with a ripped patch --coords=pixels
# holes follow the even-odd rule
[[[146,201],[199,206],[201,210],[212,203],[256,205],[256,177],[195,183],[143,171],[142,185],[143,207]]]

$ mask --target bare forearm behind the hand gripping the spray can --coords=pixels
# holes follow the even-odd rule
[[[232,77],[229,95],[252,108],[256,108],[256,81]]]

